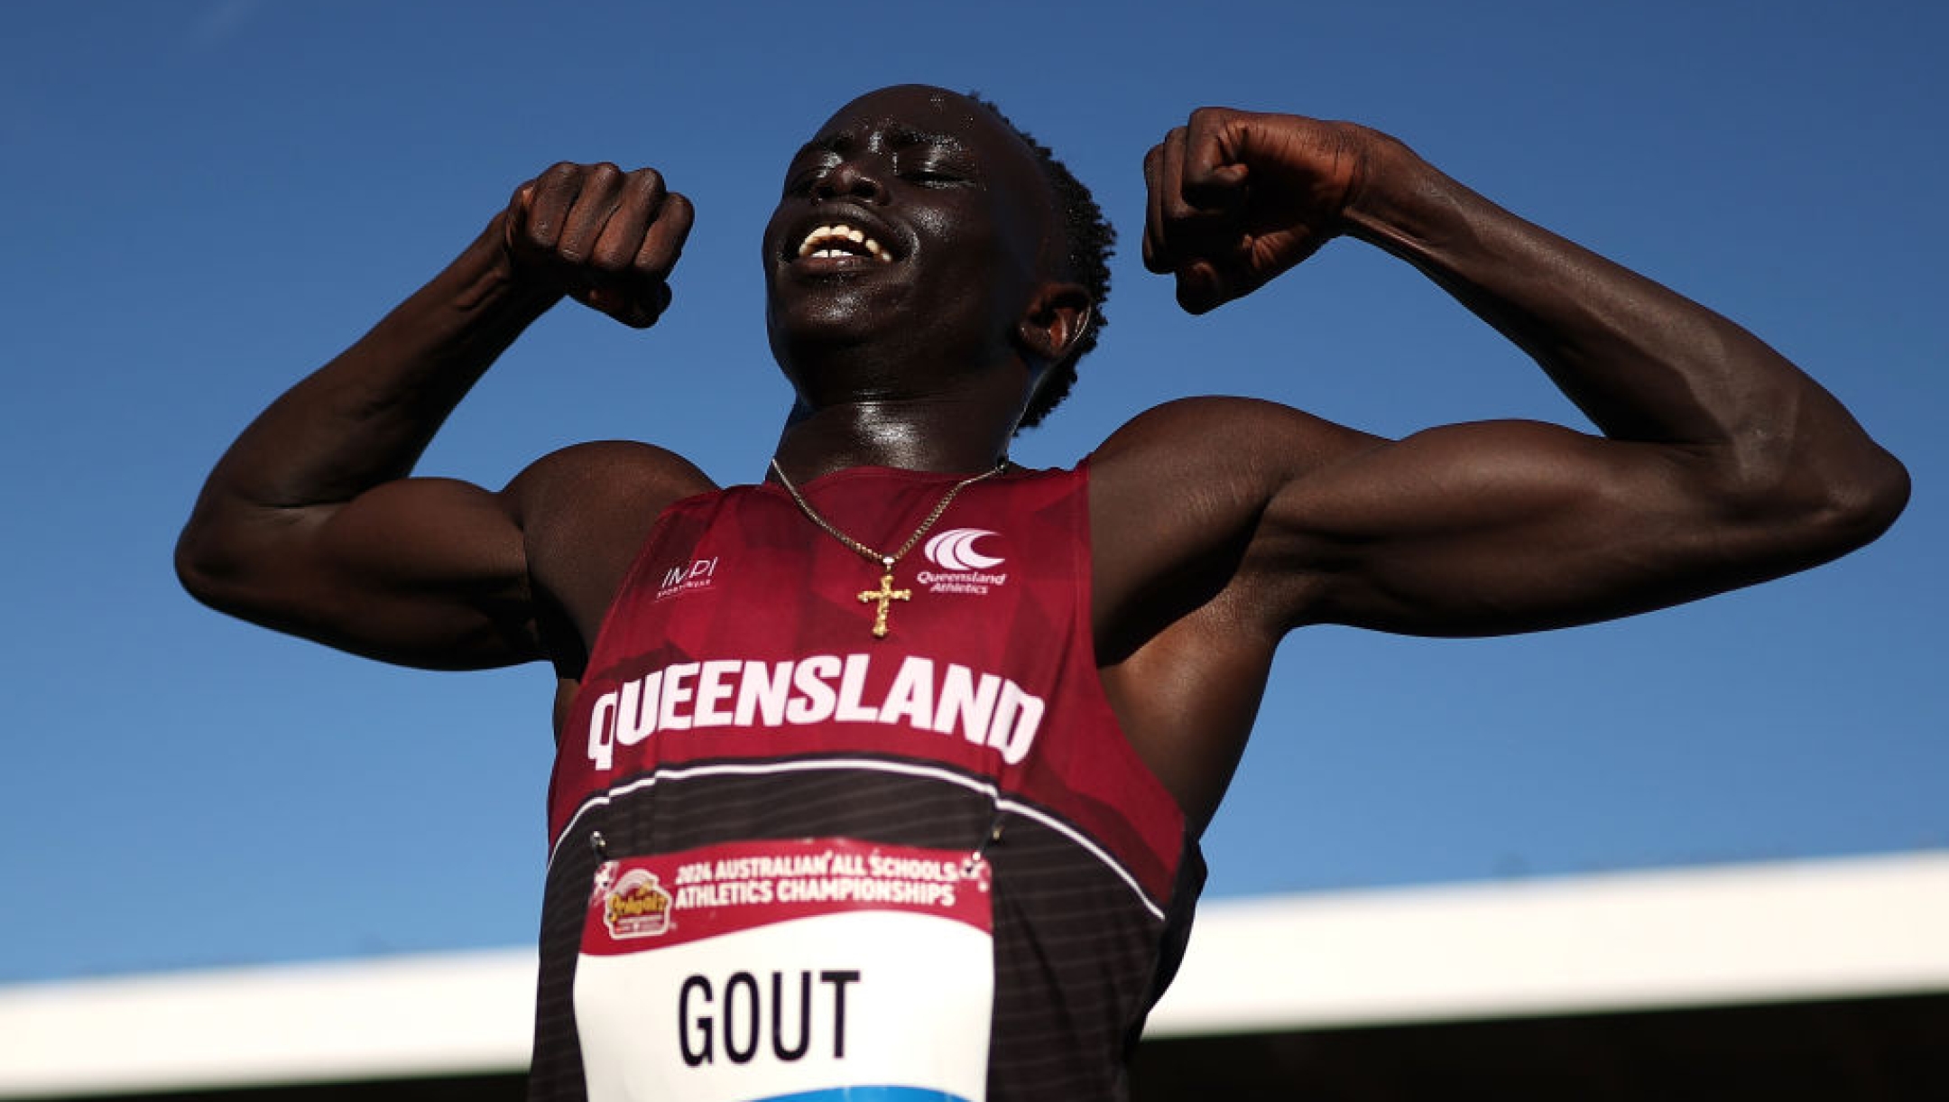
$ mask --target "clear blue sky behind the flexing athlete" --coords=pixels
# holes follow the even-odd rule
[[[1746,324],[1916,476],[1879,544],[1624,624],[1282,651],[1214,895],[1949,846],[1949,16],[1935,4],[35,4],[0,35],[0,981],[522,944],[548,675],[433,675],[199,609],[170,544],[228,439],[555,160],[698,205],[649,334],[561,308],[421,470],[581,439],[748,482],[785,412],[758,228],[893,82],[980,90],[1123,230],[1101,351],[1015,458],[1253,394],[1382,433],[1577,421],[1419,275],[1337,242],[1206,318],[1138,164],[1201,103],[1358,119]]]

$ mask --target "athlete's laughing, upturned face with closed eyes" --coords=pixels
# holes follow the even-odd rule
[[[774,353],[791,365],[873,339],[1006,353],[1058,224],[1033,150],[980,103],[920,86],[861,96],[791,160],[766,226]]]

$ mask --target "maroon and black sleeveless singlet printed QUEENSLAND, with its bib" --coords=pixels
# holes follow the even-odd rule
[[[803,492],[897,548],[955,482]],[[1088,476],[969,486],[883,640],[879,577],[776,486],[657,521],[557,745],[530,1098],[1127,1094],[1203,862],[1097,679]]]

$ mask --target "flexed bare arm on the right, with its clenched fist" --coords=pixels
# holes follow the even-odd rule
[[[1144,168],[1144,259],[1187,310],[1353,236],[1528,351],[1604,433],[1495,421],[1376,441],[1251,413],[1218,478],[1263,503],[1245,566],[1308,579],[1279,587],[1267,614],[1282,628],[1493,634],[1627,614],[1844,554],[1906,501],[1902,466],[1758,337],[1386,135],[1203,109]],[[1210,435],[1169,421],[1132,429],[1191,453]],[[1210,486],[1199,466],[1187,476]]]

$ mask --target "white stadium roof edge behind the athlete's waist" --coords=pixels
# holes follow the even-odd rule
[[[1152,1038],[1949,993],[1949,850],[1218,899]],[[0,987],[0,1098],[516,1073],[534,954]]]

